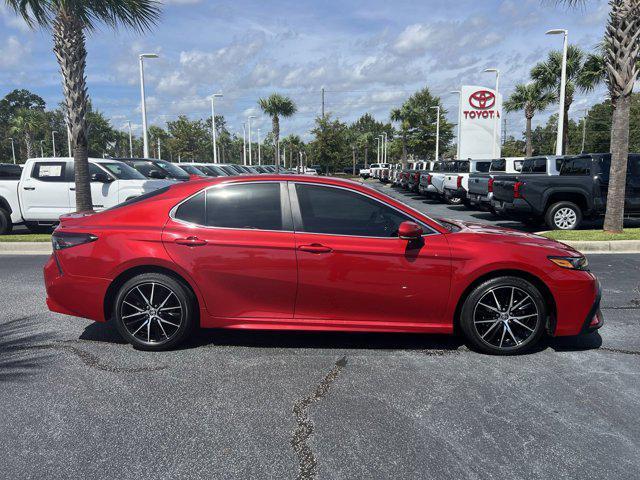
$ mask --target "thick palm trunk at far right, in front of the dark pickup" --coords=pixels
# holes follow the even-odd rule
[[[586,0],[558,0],[579,5]],[[611,126],[611,174],[607,194],[604,230],[621,232],[629,156],[631,94],[638,79],[640,55],[640,2],[609,0],[611,11],[604,35],[605,81],[613,105]]]

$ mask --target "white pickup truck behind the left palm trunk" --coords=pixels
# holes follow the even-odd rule
[[[109,159],[89,159],[93,208],[103,210],[175,183],[149,180],[128,165]],[[46,231],[60,215],[76,209],[73,158],[32,158],[20,178],[0,180],[0,235],[14,225]]]

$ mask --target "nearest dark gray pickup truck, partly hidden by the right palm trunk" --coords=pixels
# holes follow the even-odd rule
[[[584,218],[605,213],[610,169],[611,155],[607,153],[564,157],[558,175],[525,174],[523,167],[523,174],[512,184],[512,201],[505,203],[505,210],[517,218],[544,220],[554,230],[573,230]],[[507,196],[505,192],[501,198]],[[629,155],[624,213],[640,217],[640,154]]]

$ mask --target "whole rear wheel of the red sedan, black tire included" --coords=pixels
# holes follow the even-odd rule
[[[151,288],[154,289],[153,292]],[[152,304],[151,308],[149,302]],[[175,313],[177,311],[180,312],[179,319]],[[197,312],[197,301],[193,293],[181,282],[161,273],[144,273],[120,287],[114,300],[113,320],[122,338],[135,348],[169,350],[191,335],[197,323]],[[150,325],[145,326],[145,322]],[[140,328],[142,336],[135,331]],[[147,339],[144,338],[145,331],[148,332]]]

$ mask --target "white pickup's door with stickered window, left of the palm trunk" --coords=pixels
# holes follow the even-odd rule
[[[69,162],[34,162],[31,173],[20,183],[20,205],[27,221],[57,222],[72,212],[67,179]]]

